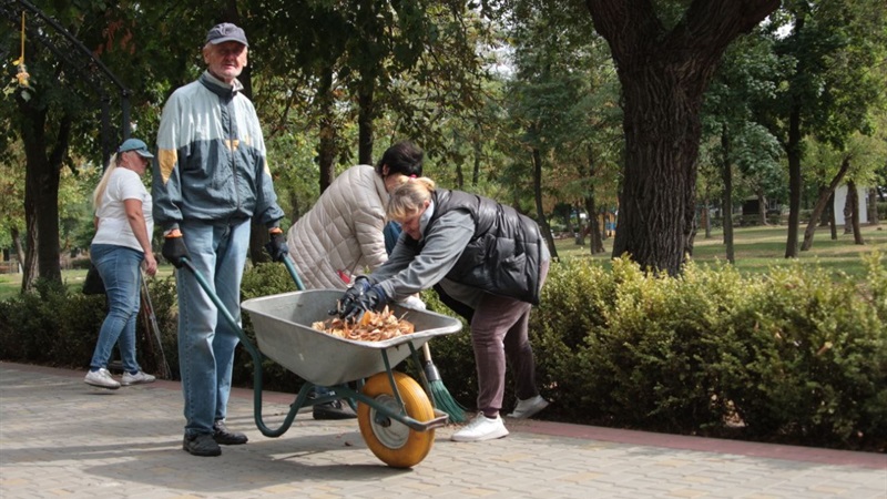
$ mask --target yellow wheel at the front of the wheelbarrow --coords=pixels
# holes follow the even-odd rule
[[[421,386],[402,373],[391,374],[407,416],[418,421],[432,419],[435,409]],[[364,395],[373,398],[374,405],[385,406],[395,413],[400,411],[387,373],[370,377],[364,385]],[[410,468],[418,465],[428,456],[435,442],[435,430],[414,430],[402,422],[386,417],[367,404],[357,405],[357,422],[369,450],[392,468]]]

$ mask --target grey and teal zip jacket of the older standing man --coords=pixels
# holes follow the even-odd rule
[[[273,227],[283,218],[255,108],[242,89],[237,80],[227,85],[204,72],[166,102],[152,182],[160,227],[252,217]]]

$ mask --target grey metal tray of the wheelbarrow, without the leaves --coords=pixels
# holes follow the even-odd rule
[[[446,315],[395,305],[395,314],[411,322],[415,333],[383,342],[357,342],[313,329],[313,323],[329,318],[328,310],[341,294],[340,289],[309,289],[247,299],[241,306],[249,314],[262,354],[319,386],[385,371],[383,350],[394,368],[410,355],[410,343],[419,348],[435,336],[462,327],[461,322]]]

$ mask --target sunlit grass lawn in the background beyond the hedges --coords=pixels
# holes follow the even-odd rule
[[[798,241],[804,238],[803,228]],[[843,272],[852,277],[861,276],[865,273],[861,255],[876,248],[887,253],[887,226],[863,226],[863,237],[866,244],[859,246],[853,243],[852,234],[843,234],[843,231],[838,231],[838,238],[832,241],[828,228],[822,227],[816,232],[813,247],[807,252],[802,252],[799,259],[810,264],[818,263],[835,274]],[[786,238],[785,226],[736,228],[734,231],[736,267],[743,273],[766,273],[774,265],[785,264]],[[588,244],[588,238],[585,242]],[[561,258],[591,257],[608,265],[611,257],[610,252],[613,249],[613,240],[604,241],[606,252],[594,256],[589,254],[588,245],[577,246],[573,238],[558,240],[555,245]],[[723,232],[721,230],[712,231],[712,237],[707,240],[704,232],[699,233],[693,253],[693,259],[697,263],[725,261],[726,246],[723,244]],[[161,266],[157,275],[164,277],[172,272],[173,267],[165,265]],[[85,277],[85,269],[62,271],[62,278],[72,291],[80,291]],[[0,274],[0,299],[14,296],[20,288],[21,274]]]

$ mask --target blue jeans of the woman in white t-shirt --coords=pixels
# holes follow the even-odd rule
[[[139,317],[144,253],[113,244],[90,246],[90,259],[99,269],[108,294],[108,315],[99,330],[92,354],[92,369],[106,368],[114,344],[120,342],[120,357],[129,373],[141,370],[135,361],[135,322]]]

